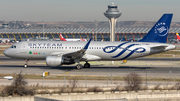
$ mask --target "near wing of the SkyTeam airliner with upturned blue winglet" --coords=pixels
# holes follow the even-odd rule
[[[92,38],[87,42],[87,44],[81,50],[69,52],[69,53],[55,52],[52,53],[51,55],[63,56],[67,58],[70,57],[72,59],[81,59],[82,56],[85,54],[85,51],[88,49],[91,40]]]

